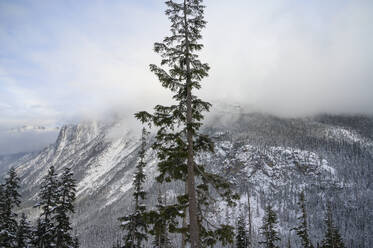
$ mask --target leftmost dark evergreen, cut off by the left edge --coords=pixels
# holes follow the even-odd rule
[[[14,208],[20,204],[19,181],[15,169],[10,168],[0,189],[0,247],[12,248],[17,245],[18,224]]]

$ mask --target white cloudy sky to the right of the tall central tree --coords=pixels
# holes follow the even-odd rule
[[[372,10],[371,1],[213,2],[204,94],[283,116],[373,114]]]

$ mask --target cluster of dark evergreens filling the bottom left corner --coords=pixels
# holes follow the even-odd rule
[[[1,247],[79,247],[70,216],[74,213],[75,180],[70,168],[57,176],[51,166],[40,185],[37,204],[40,210],[35,225],[31,225],[20,207],[19,177],[11,168],[0,185],[0,246]]]

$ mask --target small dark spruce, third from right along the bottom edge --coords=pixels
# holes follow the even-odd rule
[[[265,216],[263,217],[263,226],[260,227],[261,234],[264,237],[263,241],[260,241],[259,244],[262,244],[265,248],[279,248],[276,243],[280,241],[280,237],[277,229],[277,215],[273,211],[272,206],[268,204],[265,209]]]

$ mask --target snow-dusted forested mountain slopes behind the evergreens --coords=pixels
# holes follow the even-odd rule
[[[215,206],[215,221],[235,224],[232,216],[247,215],[249,192],[254,237],[259,238],[263,208],[271,202],[284,244],[290,235],[298,247],[299,240],[290,230],[296,223],[298,193],[304,189],[314,243],[322,238],[325,205],[331,201],[347,247],[373,246],[373,118],[284,119],[228,111],[210,116],[204,132],[213,137],[216,152],[199,159],[228,177],[242,195],[236,208]],[[122,235],[117,218],[131,208],[139,146],[138,133],[119,121],[62,127],[55,144],[12,164],[22,178],[22,211],[37,215],[32,206],[49,166],[57,171],[72,167],[78,183],[74,219],[82,247],[111,247]],[[156,159],[151,149],[145,171],[151,206],[160,187],[154,182]],[[177,183],[162,187],[169,201],[175,191],[183,190]]]

